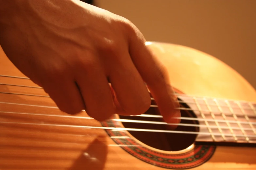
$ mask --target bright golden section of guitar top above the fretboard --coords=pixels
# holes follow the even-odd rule
[[[195,96],[256,101],[256,91],[252,85],[217,58],[181,45],[146,44],[166,66],[172,85],[182,92]]]

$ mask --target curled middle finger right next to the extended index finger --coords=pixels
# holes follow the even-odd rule
[[[115,55],[115,54],[112,54]],[[143,114],[151,104],[149,92],[128,52],[116,54],[109,68],[109,81],[114,89],[118,114]],[[120,108],[122,110],[120,110]]]

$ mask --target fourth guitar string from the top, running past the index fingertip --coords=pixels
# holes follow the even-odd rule
[[[28,104],[20,104],[20,103],[9,103],[9,102],[0,102],[1,104],[12,104],[12,105],[22,105],[22,106],[35,106],[35,107],[44,107],[44,108],[56,108],[59,109],[58,107],[55,106],[42,106],[42,105],[28,105]],[[85,110],[82,110],[85,111]],[[131,115],[133,116],[133,115]],[[141,114],[141,115],[136,115],[138,117],[148,117],[148,118],[163,118],[161,115],[149,115],[149,114]],[[198,120],[198,121],[217,121],[217,122],[222,122],[222,123],[241,123],[241,124],[253,124],[256,125],[256,122],[248,122],[248,121],[234,121],[234,120],[218,120],[218,119],[202,119],[202,118],[188,118],[188,117],[174,117],[173,119],[181,119],[181,120]]]

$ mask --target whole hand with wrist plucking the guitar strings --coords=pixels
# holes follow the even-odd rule
[[[66,113],[143,114],[148,88],[164,120],[179,123],[166,68],[121,16],[78,0],[0,0],[0,44]]]

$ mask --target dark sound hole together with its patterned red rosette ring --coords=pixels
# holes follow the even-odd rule
[[[152,101],[152,105],[155,105]],[[182,104],[183,105],[183,104]],[[180,107],[188,107],[186,104]],[[145,114],[158,114],[158,109],[151,107]],[[194,112],[181,110],[182,117],[196,117]],[[162,119],[153,119],[149,117],[139,116],[119,116],[120,119],[130,120],[148,120],[148,121],[162,121]],[[113,119],[118,119],[118,116],[113,116]],[[181,123],[190,124],[189,126],[178,126],[175,131],[199,132],[198,121],[181,120]],[[168,125],[149,124],[149,123],[128,123],[108,120],[101,123],[103,127],[126,127],[126,128],[140,128],[140,129],[160,129],[170,130]],[[152,164],[154,166],[167,169],[190,169],[207,162],[215,151],[215,146],[198,145],[186,149],[191,146],[196,136],[195,134],[181,134],[181,133],[154,133],[154,132],[139,132],[126,130],[105,130],[112,140],[120,145],[120,148],[132,156]],[[131,136],[132,135],[132,136]],[[145,145],[138,143],[135,138]],[[155,148],[155,149],[152,149]],[[160,150],[157,150],[160,149]],[[179,152],[179,150],[184,152]],[[172,151],[166,153],[166,151]],[[178,151],[178,152],[173,152]]]

